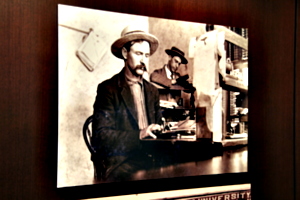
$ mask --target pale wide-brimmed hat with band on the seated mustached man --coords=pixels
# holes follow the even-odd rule
[[[117,39],[112,45],[111,45],[111,52],[118,58],[123,59],[122,55],[122,47],[130,41],[133,40],[146,40],[150,44],[150,55],[152,55],[158,47],[158,39],[145,31],[144,28],[138,27],[136,25],[129,25],[125,27],[121,33],[121,37]]]

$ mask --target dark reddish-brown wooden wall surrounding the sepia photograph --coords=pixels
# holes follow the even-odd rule
[[[296,97],[300,87],[296,80],[300,76],[296,68],[299,49],[295,46],[299,47],[299,37],[295,36],[300,35],[296,24],[299,6],[293,0],[2,0],[1,199],[65,199],[68,196],[68,190],[56,189],[58,3],[248,27],[252,198],[299,199],[300,194],[295,190],[300,191],[296,170],[299,159],[295,158],[299,157],[296,143],[299,144],[300,104]],[[185,187],[198,186],[201,183],[196,181]],[[142,191],[176,187],[156,186]],[[75,193],[72,190],[70,196],[90,197],[84,189],[79,188]],[[99,196],[105,194],[98,192]]]

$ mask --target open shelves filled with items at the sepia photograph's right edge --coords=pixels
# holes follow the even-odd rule
[[[225,32],[226,72],[223,89],[223,146],[248,143],[248,30],[219,27]]]

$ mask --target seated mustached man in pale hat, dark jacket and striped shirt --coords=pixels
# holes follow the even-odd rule
[[[161,130],[162,116],[158,90],[143,74],[158,43],[154,35],[128,26],[111,46],[113,55],[124,60],[124,68],[97,89],[91,143],[97,152],[92,160],[98,178],[129,180],[151,164],[141,140],[156,138],[153,132]]]

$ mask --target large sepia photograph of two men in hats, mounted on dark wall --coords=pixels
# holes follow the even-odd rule
[[[57,188],[248,183],[247,28],[58,5],[58,38]]]

